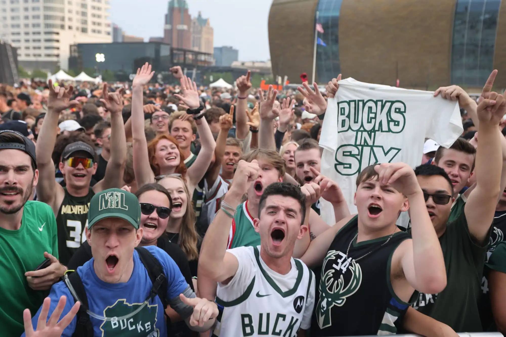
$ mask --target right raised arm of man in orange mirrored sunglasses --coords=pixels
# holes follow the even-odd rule
[[[111,157],[107,162],[104,179],[93,186],[95,193],[113,187],[121,188],[124,185],[123,170],[126,163],[126,136],[121,115],[123,88],[108,92],[107,83],[104,83],[103,90],[104,98],[100,102],[111,113]]]

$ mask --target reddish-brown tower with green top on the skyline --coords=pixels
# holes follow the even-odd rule
[[[191,49],[191,17],[186,0],[168,2],[163,42],[176,48]]]

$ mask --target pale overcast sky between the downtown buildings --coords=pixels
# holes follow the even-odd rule
[[[239,61],[270,59],[267,19],[272,0],[187,0],[190,15],[202,12],[215,30],[215,46],[239,50]],[[168,0],[110,0],[111,22],[128,35],[163,36]],[[148,5],[149,4],[149,5]]]

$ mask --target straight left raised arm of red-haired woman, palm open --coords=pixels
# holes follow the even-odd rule
[[[132,150],[134,153],[134,174],[138,187],[155,181],[155,175],[149,165],[148,143],[144,133],[143,87],[153,77],[151,65],[146,62],[132,83]]]

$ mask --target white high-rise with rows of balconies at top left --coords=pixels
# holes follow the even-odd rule
[[[67,70],[70,45],[112,41],[108,9],[108,0],[0,0],[0,38],[27,70]]]

